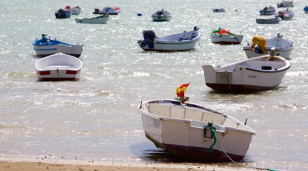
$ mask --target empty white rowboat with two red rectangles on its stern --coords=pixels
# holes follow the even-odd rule
[[[82,62],[71,55],[57,53],[35,63],[39,81],[73,81],[80,77]]]

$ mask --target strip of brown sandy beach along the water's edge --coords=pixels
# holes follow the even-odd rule
[[[5,171],[34,171],[34,170],[66,170],[66,171],[101,171],[101,170],[205,170],[205,171],[248,171],[259,169],[247,169],[237,167],[218,167],[210,165],[194,165],[189,163],[134,163],[134,162],[110,162],[110,161],[86,161],[74,159],[49,159],[49,158],[13,158],[0,157],[0,170]]]

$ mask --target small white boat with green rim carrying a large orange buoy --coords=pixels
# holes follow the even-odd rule
[[[243,35],[236,35],[229,30],[219,29],[212,31],[211,33],[211,41],[213,44],[241,44],[243,40]]]

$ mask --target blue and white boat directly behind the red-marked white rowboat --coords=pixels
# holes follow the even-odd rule
[[[42,34],[42,38],[36,40],[32,43],[33,49],[37,56],[45,57],[48,55],[53,55],[55,53],[61,52],[63,54],[72,55],[79,57],[82,53],[82,44],[67,44],[56,40],[51,40],[50,37],[46,37],[47,34]]]

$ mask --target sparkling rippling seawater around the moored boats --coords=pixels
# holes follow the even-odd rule
[[[120,15],[111,16],[107,24],[89,25],[76,24],[75,17],[95,17],[94,9],[107,4],[96,0],[1,0],[0,155],[187,162],[146,139],[137,107],[140,101],[173,99],[180,84],[191,82],[185,92],[191,102],[242,122],[247,118],[249,127],[256,131],[242,163],[307,170],[308,14],[303,7],[308,4],[294,1],[292,21],[258,25],[259,10],[270,5],[276,8],[278,2],[115,0],[108,6],[120,7]],[[55,11],[66,5],[79,5],[83,13],[56,19]],[[152,22],[150,14],[161,8],[172,13],[171,21]],[[213,8],[225,8],[226,12],[213,13]],[[202,37],[194,50],[157,53],[137,46],[136,40],[142,39],[146,28],[164,36],[191,30],[194,25]],[[218,27],[244,35],[242,44],[212,44],[209,34]],[[202,65],[222,66],[246,59],[242,48],[254,35],[272,38],[278,32],[295,46],[291,68],[278,88],[234,95],[205,85]],[[37,81],[34,64],[39,58],[32,42],[42,33],[84,45],[79,80]]]

